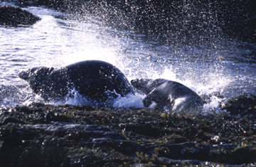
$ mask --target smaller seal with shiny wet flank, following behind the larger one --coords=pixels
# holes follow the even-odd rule
[[[157,108],[168,107],[174,112],[192,112],[203,109],[201,97],[181,83],[164,79],[136,79],[132,80],[131,83],[146,94],[143,99],[145,107],[156,102]]]

